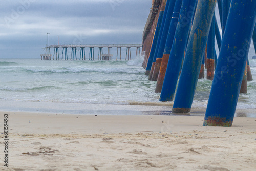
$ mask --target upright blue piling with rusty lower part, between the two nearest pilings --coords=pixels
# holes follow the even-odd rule
[[[214,80],[215,59],[215,15],[212,18],[210,32],[207,41],[207,79]]]

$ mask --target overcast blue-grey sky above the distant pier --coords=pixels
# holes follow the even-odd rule
[[[0,58],[37,58],[50,44],[140,44],[151,0],[2,1]]]

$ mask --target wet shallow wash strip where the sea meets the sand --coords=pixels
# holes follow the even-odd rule
[[[89,104],[61,102],[24,102],[0,100],[0,111],[25,113],[66,113],[72,115],[167,115],[172,114],[172,102],[129,102],[129,104]],[[203,102],[205,105],[205,102]],[[206,103],[207,104],[207,103]],[[191,116],[204,116],[206,106],[192,106]],[[256,118],[255,108],[237,108],[235,117]]]

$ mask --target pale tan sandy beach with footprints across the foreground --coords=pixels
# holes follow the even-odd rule
[[[201,116],[1,112],[1,133],[5,113],[0,170],[256,170],[256,118],[203,127]]]

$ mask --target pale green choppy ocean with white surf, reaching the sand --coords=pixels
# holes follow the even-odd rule
[[[168,115],[173,102],[159,102],[156,82],[131,61],[0,59],[0,111],[70,114]],[[256,117],[256,60],[253,81],[241,94],[238,116]],[[204,115],[211,81],[198,81],[193,108]],[[247,112],[243,112],[247,111]]]

